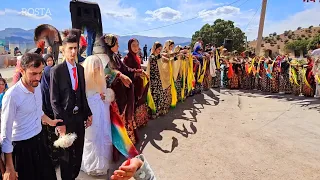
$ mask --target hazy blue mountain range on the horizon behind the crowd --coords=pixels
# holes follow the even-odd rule
[[[34,29],[24,30],[21,28],[6,28],[0,31],[0,41],[5,41],[5,43],[33,43]],[[128,41],[131,38],[136,38],[140,42],[140,48],[146,44],[149,49],[151,49],[154,42],[159,41],[164,43],[166,40],[171,39],[176,45],[186,46],[191,42],[191,38],[185,37],[148,37],[148,36],[119,36],[119,46],[120,52],[124,53],[128,49]]]

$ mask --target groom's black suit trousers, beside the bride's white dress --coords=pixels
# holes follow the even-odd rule
[[[87,118],[85,118],[87,119]],[[62,180],[75,180],[80,172],[84,145],[84,116],[79,113],[68,117],[67,133],[76,133],[72,146],[61,149],[60,171]]]

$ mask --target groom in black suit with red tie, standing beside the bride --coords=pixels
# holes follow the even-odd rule
[[[77,64],[78,39],[69,34],[63,40],[64,62],[53,67],[50,73],[50,98],[60,135],[76,133],[77,139],[69,148],[62,149],[60,170],[62,180],[75,180],[78,176],[84,145],[85,127],[92,123],[86,91],[84,69]]]

